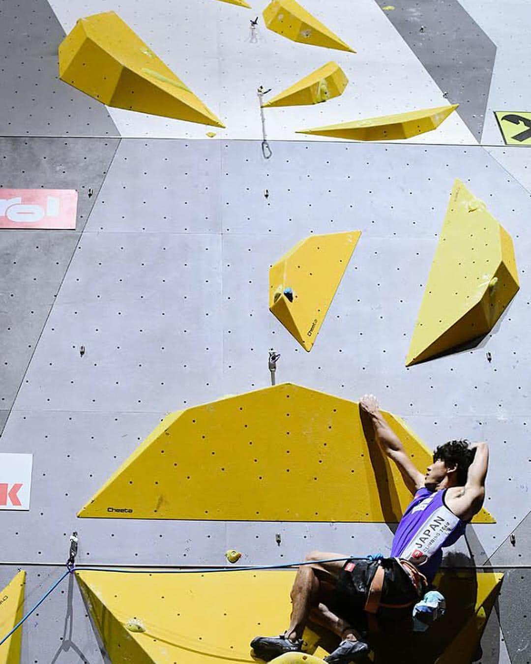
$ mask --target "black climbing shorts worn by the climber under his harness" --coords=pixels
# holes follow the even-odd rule
[[[379,622],[400,622],[410,620],[412,607],[419,601],[419,594],[408,573],[396,558],[383,560],[347,560],[339,573],[335,587],[333,611],[337,612],[352,627],[366,631],[364,611],[368,590],[378,566],[384,568],[384,584],[378,609]],[[406,605],[406,606],[404,606]]]

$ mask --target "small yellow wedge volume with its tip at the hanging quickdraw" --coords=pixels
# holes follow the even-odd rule
[[[319,104],[343,94],[348,84],[344,71],[337,62],[328,62],[325,66],[308,74],[287,90],[280,92],[266,106],[303,106]]]

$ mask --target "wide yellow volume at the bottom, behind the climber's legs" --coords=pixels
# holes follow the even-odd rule
[[[310,544],[311,545],[311,544]],[[443,594],[449,599],[446,616],[426,633],[432,653],[423,659],[433,661],[437,652],[450,645],[459,633],[459,621],[478,614],[484,607],[484,586],[488,602],[495,598],[500,582],[490,572],[454,572],[439,575]],[[485,577],[489,577],[485,579]],[[291,570],[249,570],[215,574],[150,574],[78,571],[76,579],[86,600],[96,629],[113,664],[203,664],[204,661],[252,664],[249,643],[257,635],[276,634],[289,619],[289,591],[295,578]],[[494,584],[494,586],[493,586]],[[476,589],[476,594],[469,591]],[[463,590],[469,592],[463,595]],[[461,602],[453,598],[461,591]],[[463,601],[464,600],[464,601]],[[470,606],[471,603],[471,606]],[[140,629],[131,629],[137,625]],[[436,645],[431,640],[435,633]],[[421,635],[424,637],[424,635]],[[319,635],[305,631],[307,653],[289,653],[275,660],[279,664],[317,664],[313,653],[326,653],[319,647]],[[459,638],[459,636],[458,636]],[[429,645],[428,645],[429,644]],[[467,642],[467,648],[469,643]],[[307,659],[303,659],[306,657]],[[437,660],[447,664],[447,659]],[[465,663],[457,655],[451,664]]]

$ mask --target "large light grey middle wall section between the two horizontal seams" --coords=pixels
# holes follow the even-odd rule
[[[266,164],[253,142],[216,152],[204,141],[199,159],[186,145],[119,147],[5,430],[10,450],[33,441],[36,454],[35,508],[5,515],[9,560],[21,546],[29,562],[60,560],[76,511],[163,414],[265,386],[271,346],[282,354],[278,380],[351,399],[375,392],[429,446],[467,436],[487,438],[494,455],[526,454],[530,351],[520,330],[531,305],[522,293],[476,349],[404,367],[454,177],[512,234],[525,292],[531,200],[483,148],[279,143]],[[269,264],[311,232],[352,228],[362,238],[307,355],[267,311]],[[59,477],[58,458],[68,468]],[[475,527],[478,564],[525,516],[527,475],[517,463],[489,478],[498,523]],[[218,564],[231,542],[248,562],[299,558],[308,542],[363,554],[369,534],[384,550],[392,537],[385,525],[286,525],[277,547],[279,527],[267,524],[78,527],[88,559],[123,563]],[[161,546],[135,546],[146,540]]]

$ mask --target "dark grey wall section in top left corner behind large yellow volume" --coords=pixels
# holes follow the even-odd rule
[[[104,104],[59,80],[63,38],[46,0],[0,3],[0,135],[119,136]]]

